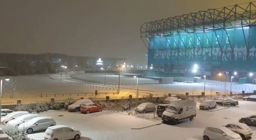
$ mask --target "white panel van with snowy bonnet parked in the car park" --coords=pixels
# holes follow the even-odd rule
[[[163,123],[178,124],[182,120],[193,120],[196,116],[196,103],[193,101],[172,102],[163,112]]]

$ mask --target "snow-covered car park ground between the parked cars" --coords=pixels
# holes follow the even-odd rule
[[[218,111],[197,110],[197,116],[192,121],[186,121],[172,126],[160,124],[151,126],[158,121],[136,118],[131,115],[122,115],[108,111],[91,114],[79,112],[48,111],[41,116],[49,116],[56,120],[57,124],[75,126],[82,133],[81,140],[202,140],[202,134],[206,126],[222,126],[230,122],[238,122],[239,118],[256,114],[256,102],[239,101],[239,106]],[[148,113],[147,113],[148,114]],[[63,115],[59,117],[58,115]],[[131,129],[142,128],[144,129]],[[253,130],[251,140],[256,140],[256,127]],[[29,134],[35,140],[43,140],[44,132]]]

